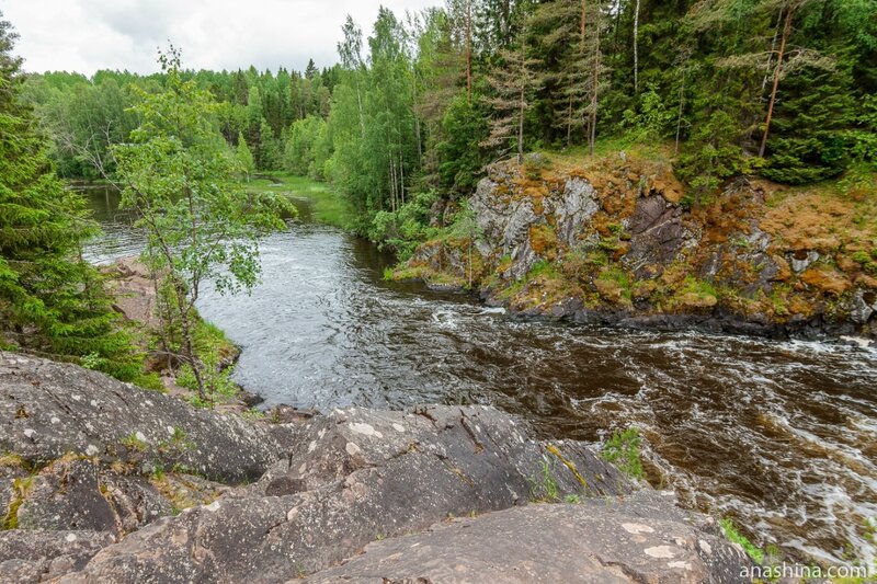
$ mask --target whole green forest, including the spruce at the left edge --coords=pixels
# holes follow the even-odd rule
[[[531,152],[659,145],[686,185],[683,205],[736,175],[874,188],[875,0],[449,0],[403,15],[381,8],[367,33],[350,16],[340,24],[339,60],[322,69],[193,71],[183,47],[160,51],[155,75],[87,78],[24,75],[4,23],[3,148],[15,152],[5,188],[31,188],[26,205],[3,207],[3,256],[14,259],[0,263],[3,312],[16,322],[7,337],[36,327],[48,354],[99,355],[138,375],[82,260],[94,225],[59,179],[143,179],[149,161],[118,164],[156,129],[149,112],[172,105],[162,95],[198,104],[178,106],[221,142],[208,139],[219,158],[206,164],[224,184],[272,171],[327,182],[352,210],[349,227],[401,259],[447,227],[431,221],[437,201],[465,204],[490,163]],[[216,165],[223,157],[234,164]],[[209,204],[238,201],[232,186]]]

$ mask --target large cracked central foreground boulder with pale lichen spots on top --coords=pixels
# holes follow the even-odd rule
[[[633,490],[581,444],[534,442],[489,408],[335,411],[304,425],[303,438],[258,483],[144,527],[69,581],[242,581],[259,574],[276,582],[452,515],[548,494]]]

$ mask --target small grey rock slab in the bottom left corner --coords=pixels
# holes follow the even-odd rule
[[[80,570],[114,541],[106,531],[0,531],[0,582],[32,584]]]

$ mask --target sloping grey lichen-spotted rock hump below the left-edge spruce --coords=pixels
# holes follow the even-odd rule
[[[107,463],[183,465],[239,482],[258,479],[286,449],[282,430],[269,424],[196,410],[73,365],[0,352],[0,448],[29,462],[75,453]]]

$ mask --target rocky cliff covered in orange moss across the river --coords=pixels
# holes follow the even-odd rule
[[[497,163],[469,207],[474,237],[426,242],[396,275],[525,316],[877,334],[874,193],[740,179],[698,204],[668,163],[619,152]]]

